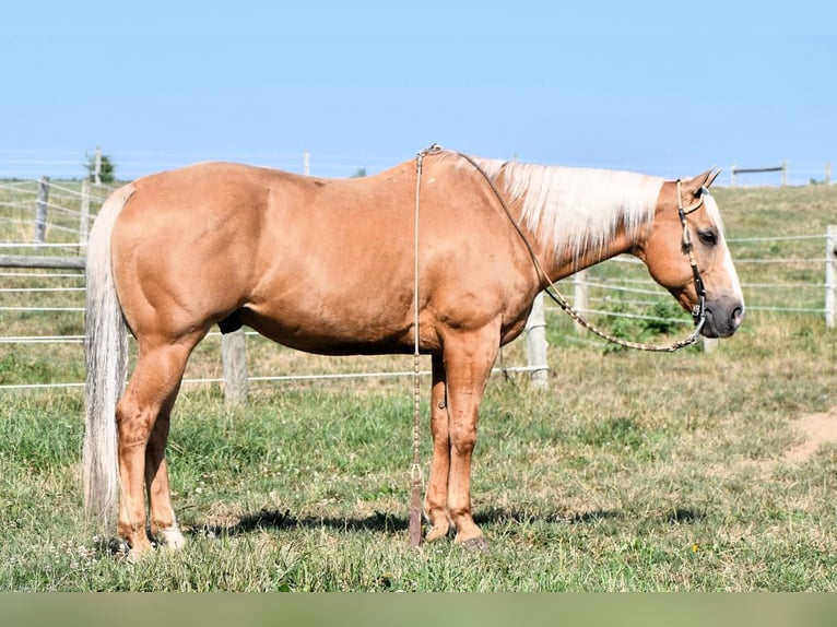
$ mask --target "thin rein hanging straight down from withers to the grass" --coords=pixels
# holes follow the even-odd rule
[[[439,150],[437,144],[423,150],[415,156],[415,215],[413,225],[413,465],[410,472],[412,495],[410,498],[410,545],[422,545],[422,465],[420,458],[421,405],[420,393],[420,345],[418,345],[418,205],[422,189],[422,162],[424,155]]]

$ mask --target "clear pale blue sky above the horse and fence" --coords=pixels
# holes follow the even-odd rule
[[[207,158],[349,176],[438,142],[691,176],[837,166],[837,3],[27,2],[0,10],[0,176]]]

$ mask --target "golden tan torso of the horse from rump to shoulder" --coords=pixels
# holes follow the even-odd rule
[[[140,179],[113,236],[126,320],[170,339],[234,316],[233,326],[311,352],[410,348],[415,176],[409,162],[363,179],[207,163]],[[425,164],[428,346],[438,323],[475,329],[502,316],[517,327],[529,299],[524,251],[472,185],[444,161]]]

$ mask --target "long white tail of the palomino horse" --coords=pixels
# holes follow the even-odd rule
[[[125,385],[128,331],[114,284],[110,235],[133,193],[128,185],[102,206],[87,244],[86,419],[84,433],[84,505],[108,523],[119,498],[116,404]]]

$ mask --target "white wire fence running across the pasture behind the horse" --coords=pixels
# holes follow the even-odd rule
[[[44,241],[33,241],[38,199],[43,199],[44,180],[0,182],[0,223],[12,225],[2,232],[13,240],[0,242],[0,265],[20,261],[19,267],[0,268],[0,390],[80,387],[78,381],[32,383],[3,372],[17,363],[44,359],[43,351],[56,352],[57,357],[78,363],[83,370],[84,342],[84,273],[75,263],[69,268],[33,269],[32,259],[83,260],[85,234],[91,216],[104,202],[108,189],[83,189],[81,181],[60,185],[47,182],[48,222]],[[40,191],[40,197],[38,196]],[[87,204],[86,209],[83,206]],[[0,227],[1,228],[1,227]],[[832,227],[833,228],[833,227]],[[832,244],[827,244],[832,241]],[[828,253],[837,245],[830,234],[789,235],[729,239],[728,244],[742,277],[742,287],[751,312],[835,317],[837,298],[829,294],[837,288],[835,257]],[[832,274],[829,274],[829,269]],[[671,296],[648,275],[645,265],[633,257],[622,256],[601,263],[558,284],[582,314],[594,323],[602,320],[663,322],[691,326],[691,317],[679,311]],[[583,298],[582,298],[583,297]],[[547,312],[557,316],[556,308]],[[573,334],[573,331],[569,332]],[[256,333],[249,333],[254,338]],[[210,342],[219,342],[220,333],[211,333]],[[256,338],[248,340],[259,342]],[[587,340],[585,340],[587,341]],[[599,343],[598,340],[590,340]],[[214,350],[214,348],[213,348]],[[40,356],[36,353],[42,351]],[[7,364],[2,368],[3,360]],[[217,357],[215,356],[215,362]],[[264,366],[272,369],[272,365]],[[12,368],[13,369],[13,368]],[[25,368],[24,368],[25,369]],[[528,366],[508,366],[505,371],[530,371]],[[283,376],[252,376],[252,381],[307,381],[316,378],[385,378],[412,375],[398,367],[391,371],[369,372],[298,372]],[[35,378],[35,377],[34,377]],[[217,383],[211,368],[200,376],[188,377],[187,383]]]

